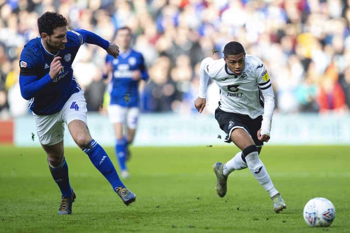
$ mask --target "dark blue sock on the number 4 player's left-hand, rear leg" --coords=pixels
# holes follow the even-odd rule
[[[49,159],[47,161],[49,163]],[[57,183],[59,189],[61,190],[62,196],[70,197],[72,195],[72,188],[70,187],[69,177],[68,177],[68,165],[63,157],[61,165],[58,167],[52,167],[49,163],[49,169],[54,178],[54,181]]]

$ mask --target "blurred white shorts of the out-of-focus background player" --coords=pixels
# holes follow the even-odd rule
[[[112,124],[122,123],[130,129],[136,129],[139,111],[138,107],[128,108],[118,104],[110,104],[108,106],[108,118]]]

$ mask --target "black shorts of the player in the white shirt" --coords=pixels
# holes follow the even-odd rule
[[[233,112],[225,112],[220,108],[215,110],[215,119],[219,123],[220,129],[226,133],[225,142],[231,142],[231,133],[234,129],[244,129],[252,137],[255,145],[261,147],[264,145],[262,141],[258,139],[257,133],[261,128],[262,116],[258,116],[255,119],[250,118],[247,115],[242,115]]]

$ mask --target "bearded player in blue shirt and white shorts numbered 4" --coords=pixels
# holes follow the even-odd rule
[[[84,91],[73,77],[71,66],[84,43],[96,44],[114,57],[119,54],[118,46],[90,31],[68,31],[68,21],[54,12],[45,12],[37,24],[40,37],[31,39],[21,53],[19,83],[21,95],[29,100],[28,107],[33,111],[52,178],[62,193],[58,214],[71,214],[76,198],[64,158],[64,124],[75,143],[110,182],[124,204],[129,205],[136,196],[120,181],[109,156],[92,139],[86,125]]]

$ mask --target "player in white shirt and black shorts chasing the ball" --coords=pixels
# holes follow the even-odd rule
[[[278,213],[286,209],[283,198],[259,158],[264,141],[270,139],[275,107],[271,81],[264,63],[246,54],[239,42],[226,44],[222,59],[205,58],[200,67],[199,97],[195,100],[195,107],[200,113],[206,105],[209,78],[214,79],[220,88],[215,119],[226,133],[225,142],[233,142],[241,150],[227,163],[214,163],[217,194],[220,197],[226,195],[227,178],[231,172],[249,168],[270,195],[274,211]]]

